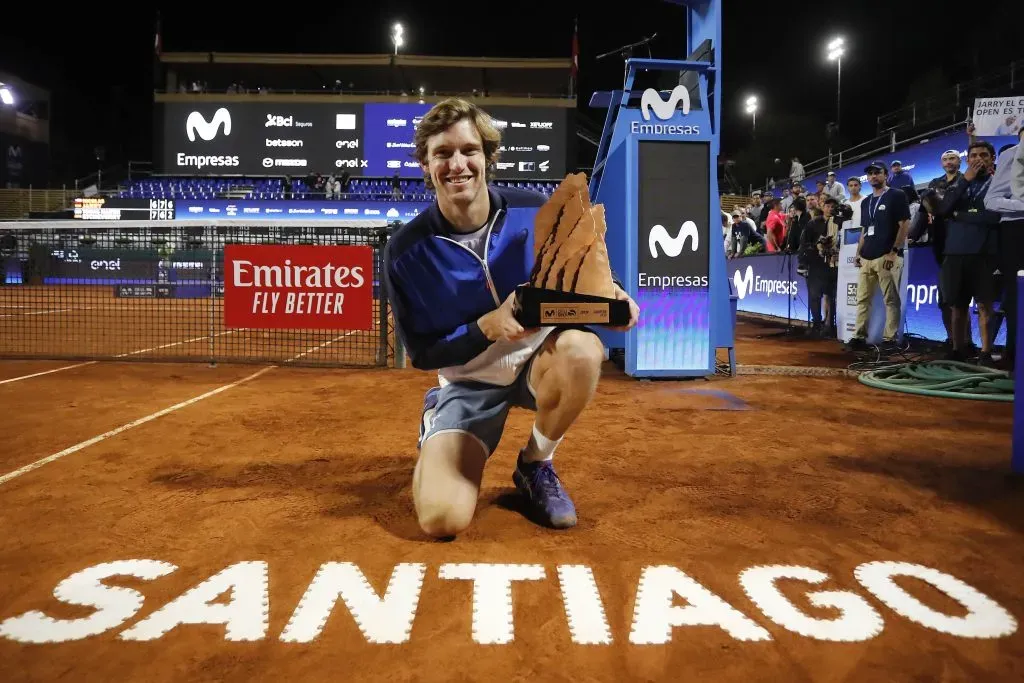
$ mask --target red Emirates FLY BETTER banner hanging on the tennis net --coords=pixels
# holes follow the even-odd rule
[[[224,327],[371,330],[373,247],[227,245]]]

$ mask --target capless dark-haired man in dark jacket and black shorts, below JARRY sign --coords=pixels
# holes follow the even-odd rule
[[[978,304],[981,354],[978,365],[991,366],[990,326],[995,300],[995,276],[998,265],[999,214],[985,208],[985,196],[992,183],[995,150],[987,141],[976,141],[968,148],[968,169],[949,185],[936,212],[946,219],[945,258],[939,274],[943,298],[952,306],[952,359],[965,360],[970,339],[963,336],[961,318],[969,314],[973,298]]]

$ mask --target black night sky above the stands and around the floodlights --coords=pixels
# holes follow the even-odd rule
[[[406,53],[568,57],[577,7],[594,4],[523,0],[470,8],[365,0],[273,3],[273,9],[263,11],[176,3],[162,9],[163,40],[167,51],[381,53],[391,50],[390,26],[397,20],[406,26]],[[580,109],[597,122],[603,112],[589,110],[586,100],[595,89],[621,85],[623,62],[617,57],[595,61],[595,55],[656,32],[653,56],[685,56],[682,7],[662,0],[610,4],[629,11],[579,17]],[[778,9],[737,0],[725,4],[722,154],[737,160],[744,182],[757,179],[748,159],[800,154],[806,160],[824,152],[824,127],[836,111],[836,69],[824,59],[824,44],[834,34],[844,35],[850,45],[843,62],[843,136],[852,142],[873,136],[876,117],[902,106],[912,90],[951,86],[1024,55],[1011,38],[1020,12],[1010,0],[979,3],[986,6],[978,22],[964,5],[941,13],[913,2],[858,11],[842,4],[813,10],[805,3]],[[108,11],[49,17],[18,15],[22,8],[4,10],[0,70],[53,93],[56,184],[90,172],[96,144],[106,146],[111,161],[152,156],[156,10],[143,9],[143,3],[102,7]],[[503,13],[503,7],[513,11]],[[754,142],[742,111],[748,93],[761,100]]]

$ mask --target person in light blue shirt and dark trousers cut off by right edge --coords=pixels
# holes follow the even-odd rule
[[[985,208],[999,214],[999,272],[1002,274],[1000,307],[1007,318],[1007,347],[1002,367],[1014,368],[1017,353],[1017,271],[1024,268],[1024,199],[1013,196],[1014,158],[1024,147],[1024,128],[1018,143],[999,155],[995,176],[985,195]]]

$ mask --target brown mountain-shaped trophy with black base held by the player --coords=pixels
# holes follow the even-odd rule
[[[614,298],[606,231],[604,207],[590,203],[587,176],[567,175],[535,219],[534,269],[515,292],[520,325],[629,325],[629,302]]]

